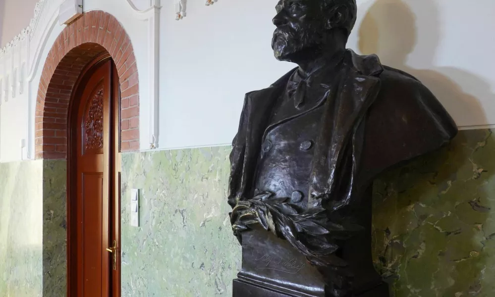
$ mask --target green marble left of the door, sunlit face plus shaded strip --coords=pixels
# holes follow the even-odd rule
[[[0,296],[66,294],[65,161],[0,163]]]

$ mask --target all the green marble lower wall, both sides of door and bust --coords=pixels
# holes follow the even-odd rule
[[[122,296],[231,296],[241,254],[225,201],[229,151],[123,155]],[[0,163],[0,296],[65,296],[65,170]],[[375,182],[374,261],[393,296],[495,296],[494,172],[495,136],[470,130]]]

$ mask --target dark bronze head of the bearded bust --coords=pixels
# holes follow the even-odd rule
[[[280,0],[275,6],[272,49],[282,61],[297,63],[339,34],[344,45],[356,22],[356,0]]]

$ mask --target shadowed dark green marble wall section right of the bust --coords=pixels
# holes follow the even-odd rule
[[[461,131],[375,182],[375,264],[395,297],[495,296],[495,136]]]

